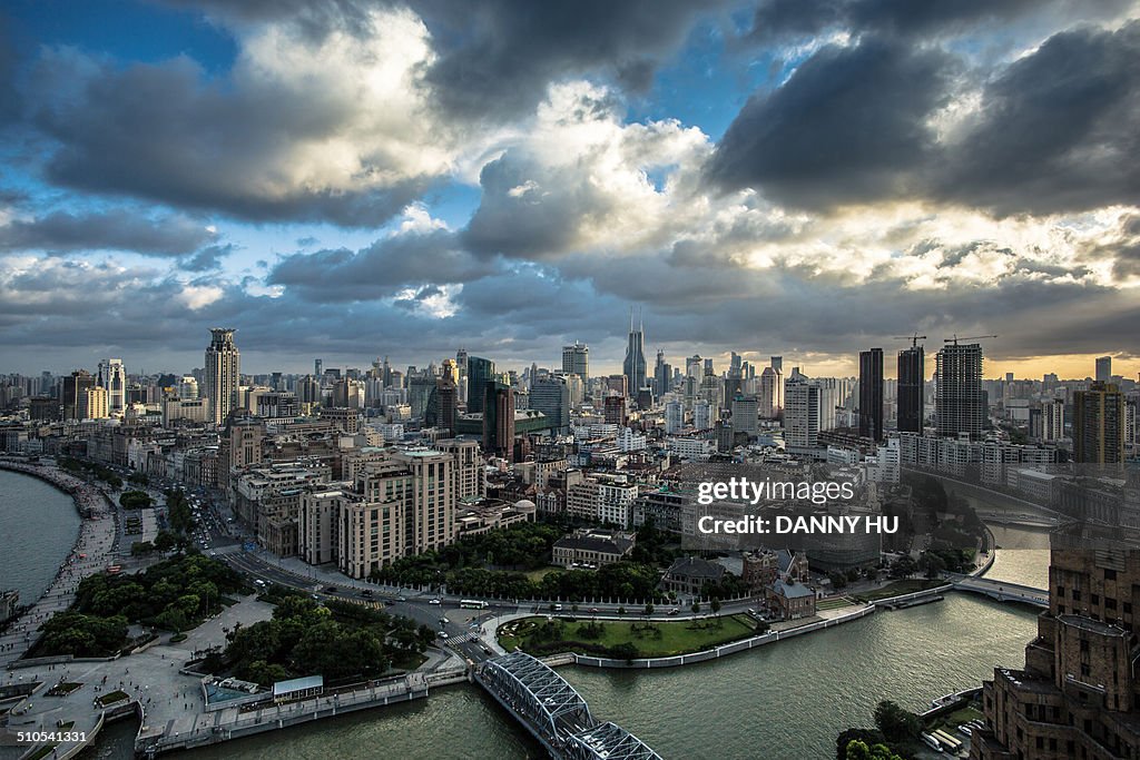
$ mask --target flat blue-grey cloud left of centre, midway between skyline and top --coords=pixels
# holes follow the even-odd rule
[[[388,297],[409,286],[466,283],[496,270],[464,251],[448,230],[406,232],[356,253],[340,248],[298,253],[270,271],[269,285],[284,285],[309,301]]]

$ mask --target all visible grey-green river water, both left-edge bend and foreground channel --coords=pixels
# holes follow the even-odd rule
[[[14,508],[15,507],[15,508]],[[0,472],[0,579],[34,599],[75,539],[70,497]],[[1043,587],[1048,536],[994,529],[991,575]],[[15,538],[14,538],[15,537]],[[934,697],[977,686],[995,664],[1019,667],[1036,631],[1035,613],[983,597],[881,612],[832,629],[686,668],[630,672],[563,668],[592,712],[643,738],[666,758],[834,757],[834,738],[871,725],[879,700],[920,710]],[[125,760],[137,725],[104,729],[91,760]],[[545,757],[542,747],[477,687],[427,700],[185,753],[187,760],[318,758]]]

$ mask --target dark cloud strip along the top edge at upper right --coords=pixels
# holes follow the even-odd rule
[[[832,30],[898,35],[958,33],[1009,23],[1034,13],[1060,17],[1112,15],[1126,0],[762,0],[749,38],[758,42],[814,36]]]

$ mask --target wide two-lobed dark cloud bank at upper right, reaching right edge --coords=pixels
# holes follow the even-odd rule
[[[915,197],[1001,216],[1140,203],[1140,23],[1061,32],[993,71],[976,115],[938,142],[930,119],[962,96],[966,65],[897,39],[823,48],[746,104],[707,174],[816,210]]]

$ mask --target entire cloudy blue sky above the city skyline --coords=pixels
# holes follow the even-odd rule
[[[1134,377],[1138,148],[1124,0],[15,0],[0,371]]]

